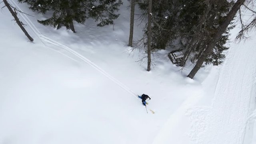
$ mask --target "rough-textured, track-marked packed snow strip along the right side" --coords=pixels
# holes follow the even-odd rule
[[[255,99],[251,92],[256,77],[256,49],[253,46],[230,49],[210,108],[192,108],[186,112],[194,144],[243,144],[248,121],[256,118],[256,110],[250,114],[250,103]]]

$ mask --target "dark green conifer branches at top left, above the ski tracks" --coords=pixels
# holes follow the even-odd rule
[[[46,20],[38,20],[43,25],[54,26],[59,29],[61,26],[70,27],[75,20],[84,23],[86,19],[93,18],[99,22],[98,26],[113,24],[118,18],[118,7],[121,0],[18,0],[30,5],[30,9],[45,14],[52,12],[52,16]]]

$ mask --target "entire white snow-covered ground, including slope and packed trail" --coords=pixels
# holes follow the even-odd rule
[[[87,20],[74,23],[76,33],[42,26],[36,20],[46,16],[9,2],[35,16],[18,15],[34,43],[3,8],[0,144],[256,144],[256,34],[191,80],[192,66],[180,71],[168,50],[154,55],[150,72],[136,62],[143,55],[126,46],[128,2],[114,26]],[[136,98],[143,93],[148,113]]]

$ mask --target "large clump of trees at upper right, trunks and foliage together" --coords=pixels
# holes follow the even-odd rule
[[[241,6],[256,13],[246,6],[253,4],[252,0],[156,0],[152,4],[152,14],[148,15],[149,3],[150,0],[136,1],[142,18],[152,16],[151,24],[148,23],[144,29],[145,36],[151,33],[152,37],[146,38],[150,46],[144,42],[146,51],[166,49],[179,42],[176,49],[182,50],[184,54],[179,66],[184,67],[188,62],[195,64],[189,78],[194,78],[196,72],[205,65],[217,66],[223,62],[224,51],[228,50],[226,43],[229,31],[234,28],[233,20]],[[244,38],[244,34],[255,25],[255,18],[246,26],[242,24],[237,39]],[[134,44],[134,47],[138,46],[138,43]]]

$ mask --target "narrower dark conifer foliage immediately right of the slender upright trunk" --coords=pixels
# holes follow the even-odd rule
[[[138,2],[143,15],[147,14],[147,0]],[[152,50],[165,49],[177,36],[175,29],[179,2],[172,0],[154,0],[152,4]],[[147,29],[145,29],[147,33]]]

